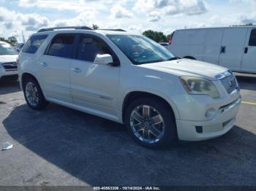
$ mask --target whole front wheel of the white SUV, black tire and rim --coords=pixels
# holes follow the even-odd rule
[[[143,147],[165,147],[176,139],[176,122],[170,106],[157,98],[140,98],[129,104],[125,125]]]

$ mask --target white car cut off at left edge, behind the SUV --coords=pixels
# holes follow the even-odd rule
[[[17,58],[18,52],[0,41],[0,79],[18,79]]]

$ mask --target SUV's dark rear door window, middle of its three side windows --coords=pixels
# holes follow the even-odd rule
[[[63,58],[72,58],[74,41],[75,35],[73,34],[57,34],[51,41],[46,54]]]

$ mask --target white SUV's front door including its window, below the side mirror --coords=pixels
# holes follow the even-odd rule
[[[80,35],[77,61],[70,66],[71,95],[74,104],[89,112],[104,112],[116,116],[118,110],[118,66],[94,64],[96,55],[110,54],[118,58],[98,36]]]

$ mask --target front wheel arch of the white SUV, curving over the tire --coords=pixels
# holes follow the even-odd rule
[[[159,95],[157,93],[149,93],[147,91],[141,91],[141,90],[133,90],[129,93],[127,93],[124,96],[123,102],[122,102],[122,107],[121,107],[121,117],[122,117],[122,122],[124,122],[124,116],[125,116],[125,112],[126,112],[126,108],[127,106],[129,106],[129,104],[131,103],[131,101],[135,98],[157,98],[162,100],[163,102],[165,102],[165,104],[167,104],[167,106],[170,107],[170,112],[173,114],[173,117],[175,119],[178,118],[178,111],[176,109],[176,106],[172,103],[170,103],[170,101],[167,101],[167,98],[165,98],[165,96],[163,95]]]

